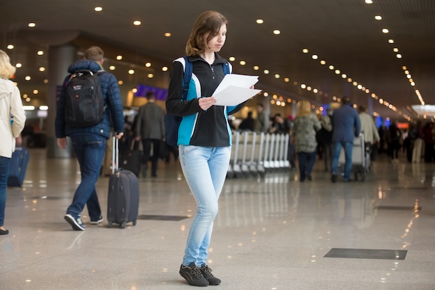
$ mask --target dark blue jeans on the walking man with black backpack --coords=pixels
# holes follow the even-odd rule
[[[67,209],[67,214],[81,215],[81,211],[88,206],[91,220],[98,220],[101,215],[97,191],[97,183],[106,150],[106,138],[97,134],[81,134],[71,136],[72,147],[76,152],[80,165],[81,182],[74,193],[72,204]]]

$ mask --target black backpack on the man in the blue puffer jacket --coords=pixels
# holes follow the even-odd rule
[[[67,127],[90,127],[103,120],[104,99],[99,72],[78,70],[67,82],[65,122]]]

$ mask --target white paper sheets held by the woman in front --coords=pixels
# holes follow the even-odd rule
[[[213,92],[212,97],[216,99],[215,106],[237,106],[254,97],[261,92],[261,90],[251,88],[257,81],[258,76],[226,74]]]

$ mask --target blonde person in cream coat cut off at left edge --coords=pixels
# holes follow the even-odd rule
[[[9,163],[15,150],[15,138],[19,137],[26,122],[19,89],[9,80],[13,74],[15,67],[10,64],[8,54],[0,50],[0,235],[9,233],[3,225]]]

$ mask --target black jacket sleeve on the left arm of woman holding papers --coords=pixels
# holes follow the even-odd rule
[[[166,112],[179,117],[203,113],[204,111],[199,107],[197,98],[189,101],[181,100],[183,97],[183,76],[183,64],[179,61],[174,61],[167,90]]]

